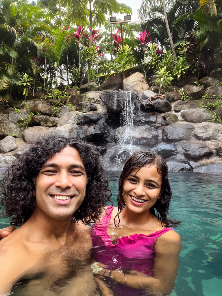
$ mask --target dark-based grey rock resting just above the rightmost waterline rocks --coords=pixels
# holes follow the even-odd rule
[[[199,160],[207,155],[213,154],[213,151],[207,147],[204,143],[202,144],[185,144],[182,146],[184,149],[184,155],[192,160]]]

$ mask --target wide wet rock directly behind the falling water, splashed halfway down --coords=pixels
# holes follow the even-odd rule
[[[128,141],[127,138],[129,139]],[[115,139],[117,141],[124,139],[126,144],[144,146],[155,145],[159,142],[157,130],[147,126],[135,126],[129,129],[125,129],[122,127],[117,128],[115,130]]]

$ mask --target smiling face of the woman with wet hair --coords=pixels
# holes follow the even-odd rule
[[[134,213],[149,211],[161,196],[162,175],[156,165],[133,170],[123,184],[123,200]]]

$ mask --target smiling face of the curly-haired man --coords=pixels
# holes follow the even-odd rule
[[[47,160],[36,177],[36,207],[51,218],[70,218],[83,202],[86,183],[78,151],[66,147]]]

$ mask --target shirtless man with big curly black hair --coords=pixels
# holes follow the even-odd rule
[[[20,227],[0,241],[0,295],[97,295],[78,221],[96,221],[110,197],[98,153],[78,139],[40,139],[1,187],[4,217]]]

